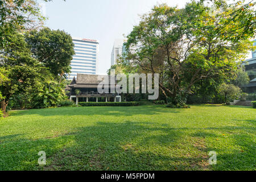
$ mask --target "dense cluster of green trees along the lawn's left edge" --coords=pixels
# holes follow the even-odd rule
[[[61,82],[63,74],[70,71],[72,38],[64,31],[42,29],[45,19],[36,0],[0,1],[0,101],[4,114],[13,97],[26,103],[40,102],[33,107],[55,106],[64,98],[63,85],[56,84],[56,78],[60,75]],[[53,95],[56,98],[52,99]]]

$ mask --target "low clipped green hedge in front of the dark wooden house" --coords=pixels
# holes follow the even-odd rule
[[[139,102],[79,102],[81,106],[138,106]]]

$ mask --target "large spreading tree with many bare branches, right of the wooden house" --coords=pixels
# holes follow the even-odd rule
[[[192,1],[184,9],[155,6],[127,36],[125,58],[131,67],[159,73],[163,94],[184,104],[200,80],[234,75],[255,33],[253,6],[225,1],[211,7]]]

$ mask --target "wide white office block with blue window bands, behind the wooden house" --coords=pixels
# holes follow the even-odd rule
[[[97,40],[73,38],[75,55],[71,61],[71,73],[68,78],[76,77],[77,73],[96,75],[98,65]]]

